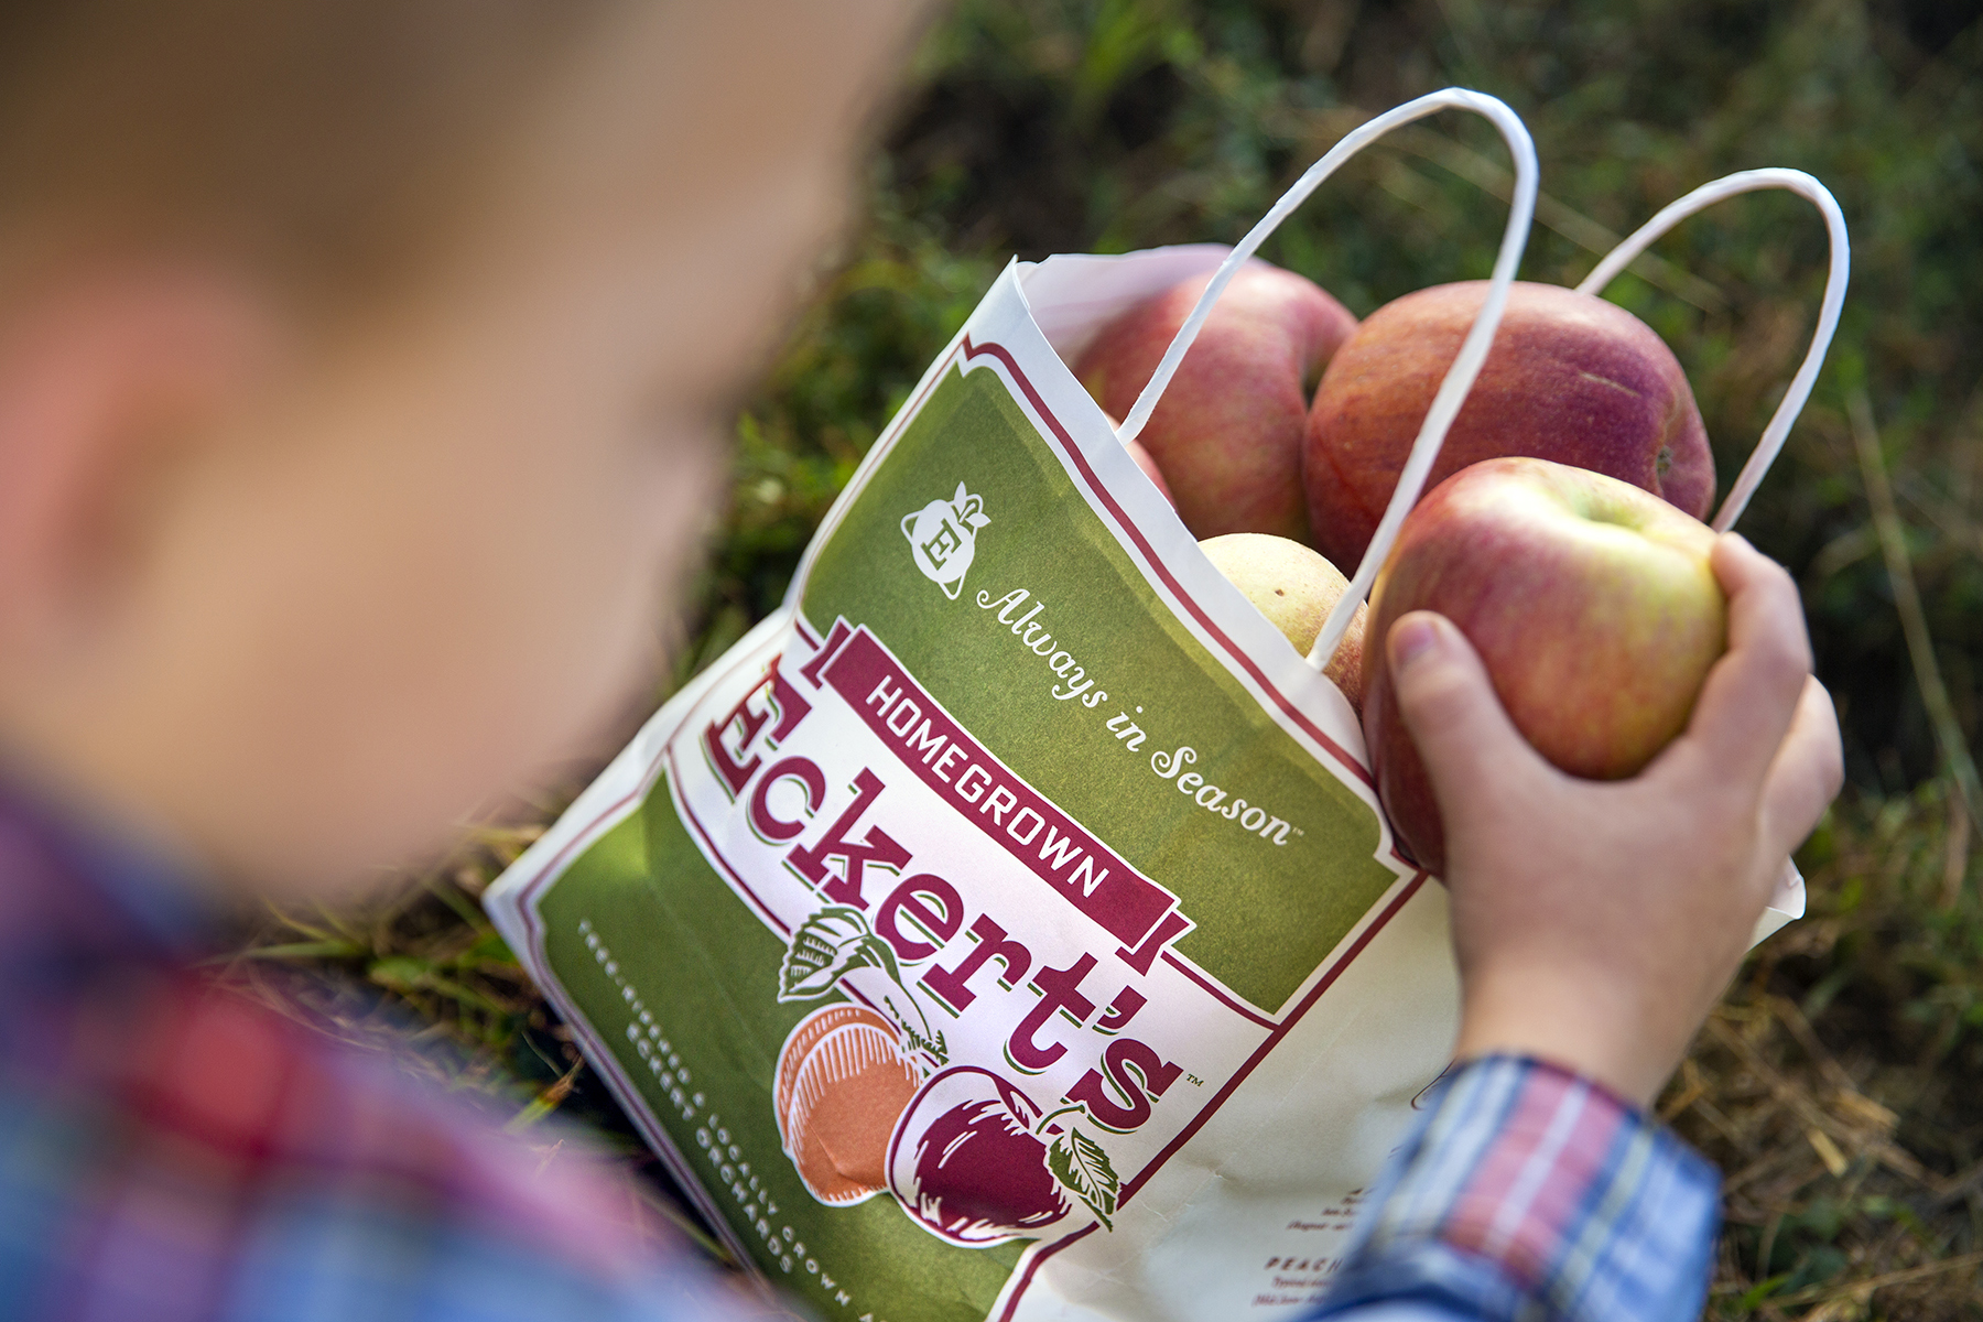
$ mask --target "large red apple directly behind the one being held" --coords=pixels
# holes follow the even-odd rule
[[[1487,281],[1406,293],[1329,361],[1303,478],[1323,555],[1356,573]],[[1428,486],[1527,454],[1610,474],[1707,515],[1715,464],[1693,390],[1652,327],[1600,297],[1517,281]]]

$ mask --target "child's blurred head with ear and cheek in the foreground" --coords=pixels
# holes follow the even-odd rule
[[[321,888],[623,714],[914,8],[0,8],[12,773]]]

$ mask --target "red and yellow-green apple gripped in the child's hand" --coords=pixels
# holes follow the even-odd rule
[[[1467,636],[1509,719],[1571,775],[1636,775],[1688,723],[1727,648],[1713,531],[1636,486],[1567,464],[1485,460],[1426,496],[1370,593],[1364,739],[1404,848],[1444,872],[1432,781],[1384,640],[1408,610]]]

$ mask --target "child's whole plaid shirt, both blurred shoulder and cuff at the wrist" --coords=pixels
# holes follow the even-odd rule
[[[0,797],[0,1316],[718,1322],[625,1191],[188,973],[182,878]],[[1705,1163],[1555,1070],[1446,1084],[1323,1316],[1678,1318]]]

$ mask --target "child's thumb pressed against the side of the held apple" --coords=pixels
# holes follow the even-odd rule
[[[1398,616],[1384,644],[1398,712],[1448,825],[1461,803],[1539,761],[1507,719],[1479,652],[1452,620],[1412,610]]]

